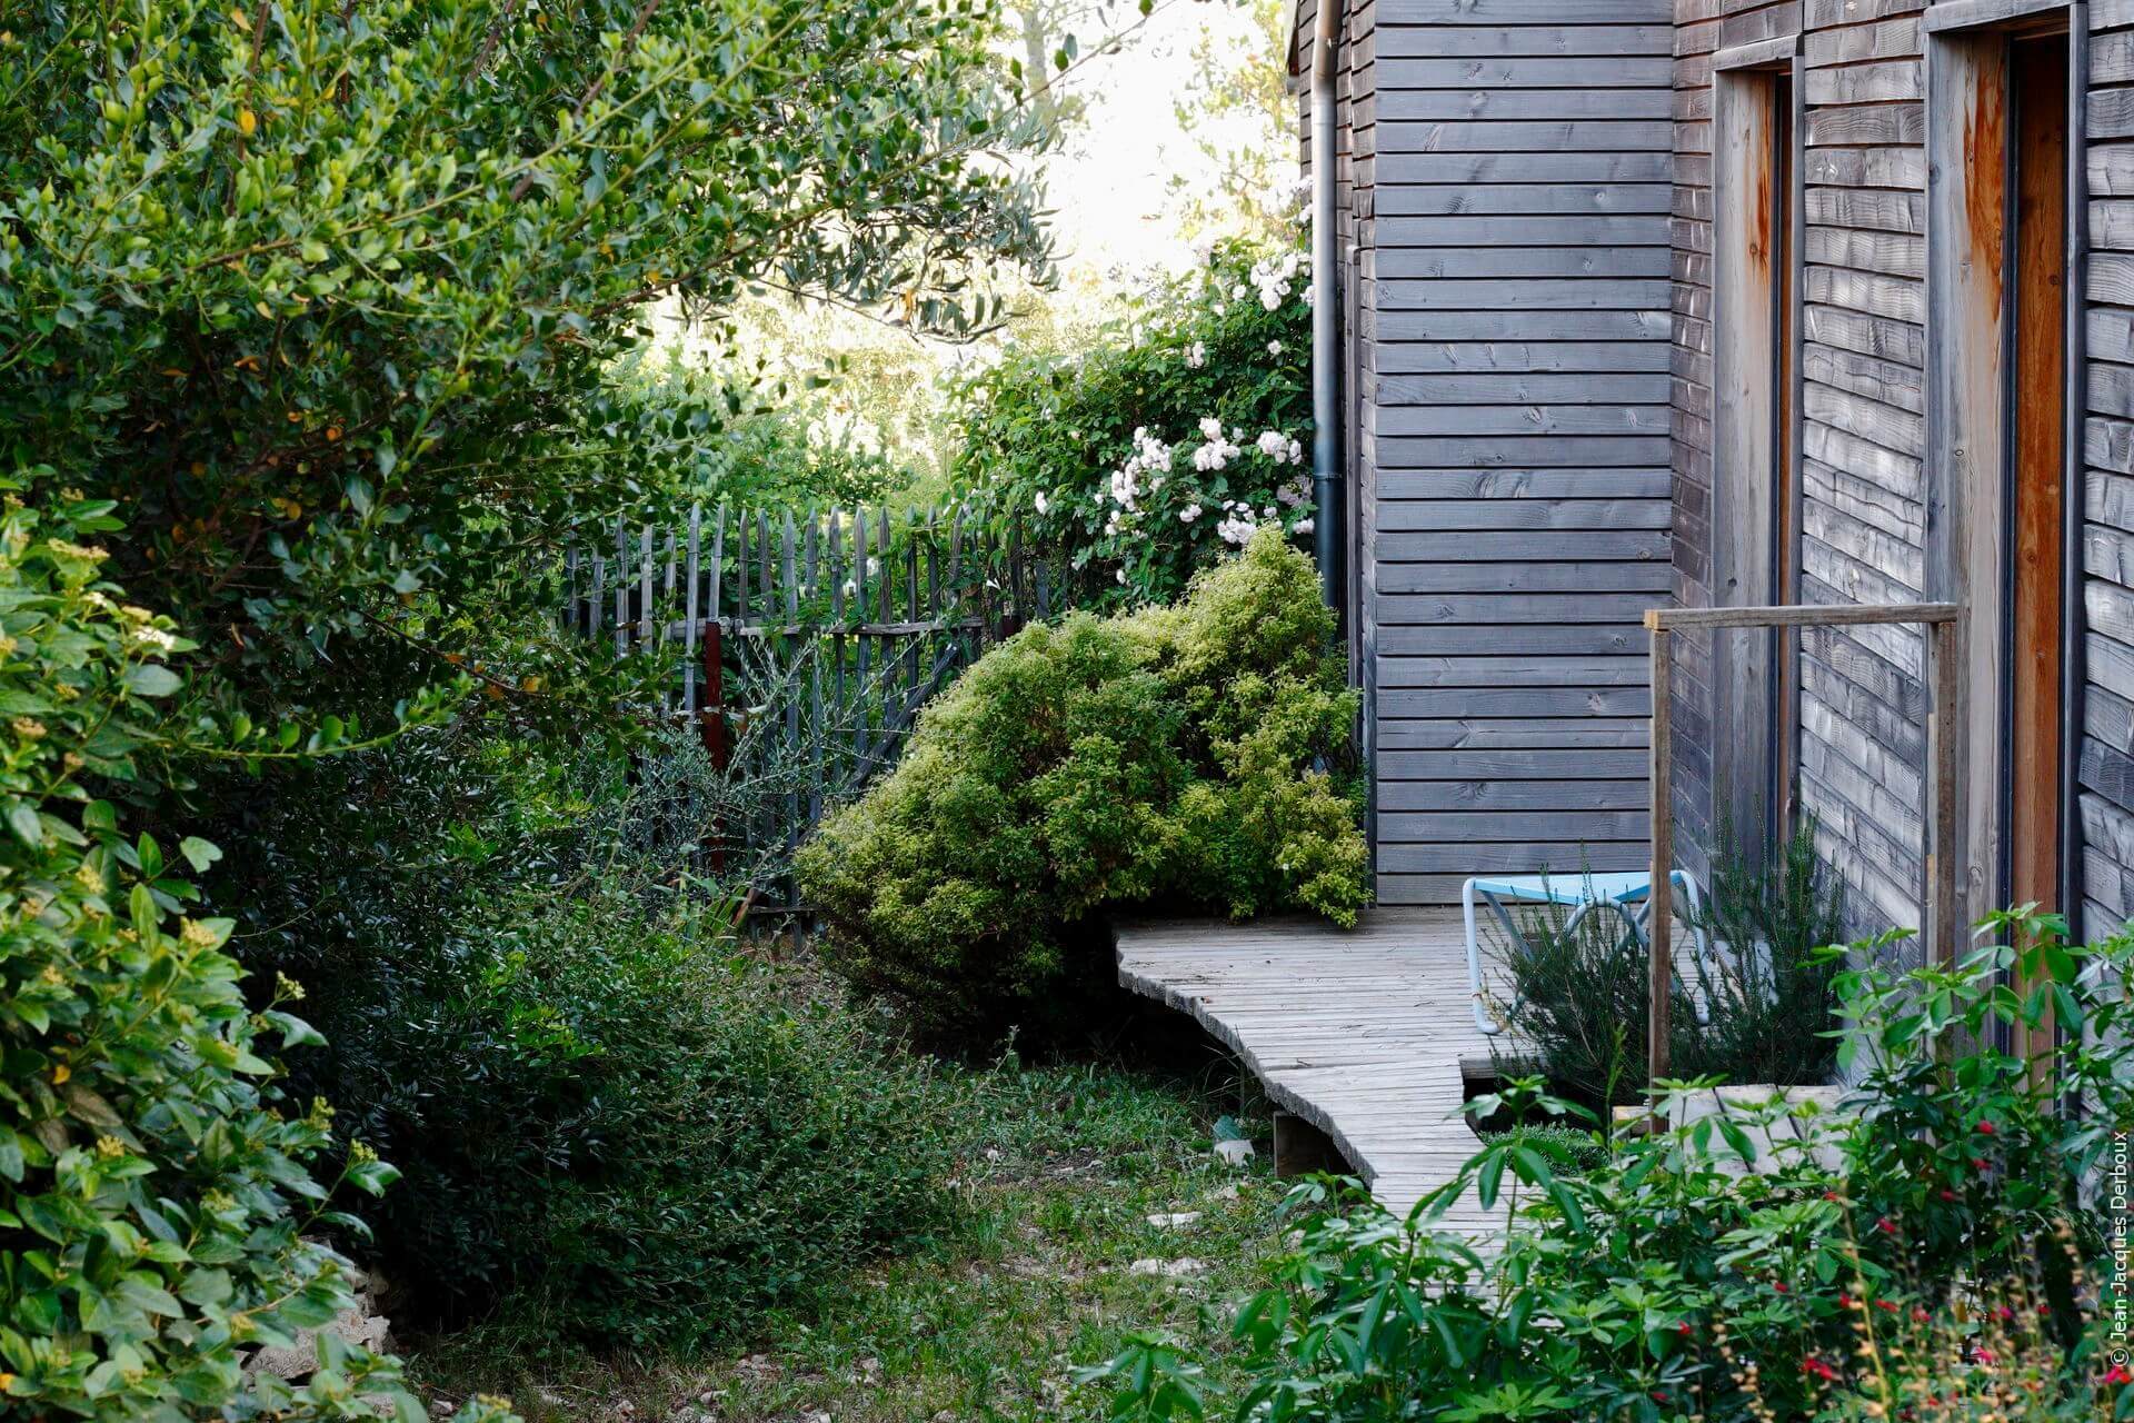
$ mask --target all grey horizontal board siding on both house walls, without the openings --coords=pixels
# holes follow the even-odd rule
[[[1479,870],[1643,860],[1637,619],[1714,602],[1720,51],[1797,36],[1799,595],[1929,593],[1925,0],[1671,4],[1351,17],[1359,676],[1389,902]],[[2083,928],[2100,934],[2134,915],[2134,0],[2085,13],[2070,557]],[[1921,661],[1914,629],[1801,638],[1801,804],[1861,928],[1918,922]],[[1671,796],[1692,862],[1718,838],[1711,676],[1709,640],[1677,638]]]

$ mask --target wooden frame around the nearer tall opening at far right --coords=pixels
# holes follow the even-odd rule
[[[2014,183],[2010,181],[2010,43],[2068,38],[2068,241],[2066,350],[2061,384],[2061,668],[2059,668],[2059,900],[2081,934],[2081,516],[2087,350],[2085,109],[2089,13],[2083,0],[1944,0],[1927,30],[1927,597],[1968,610],[1959,766],[1963,787],[1955,836],[1963,922],[1997,909],[2008,894],[2008,614],[2010,478],[2008,322]],[[1991,169],[1974,156],[1989,154]],[[1985,181],[1980,181],[1980,177]],[[1987,241],[1976,213],[1997,215]]]

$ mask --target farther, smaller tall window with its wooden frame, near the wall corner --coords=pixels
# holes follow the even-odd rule
[[[1786,81],[1784,151],[1778,81]],[[1795,38],[1720,51],[1711,75],[1711,602],[1799,602],[1805,66]],[[1784,181],[1773,186],[1773,177]],[[1771,256],[1784,235],[1784,271]],[[1784,401],[1784,410],[1780,410]],[[1780,508],[1784,503],[1784,508]],[[1782,557],[1780,542],[1793,544]],[[1784,576],[1782,576],[1784,570]],[[1714,815],[1752,860],[1790,828],[1797,629],[1711,649]],[[1775,657],[1773,657],[1775,651]]]

